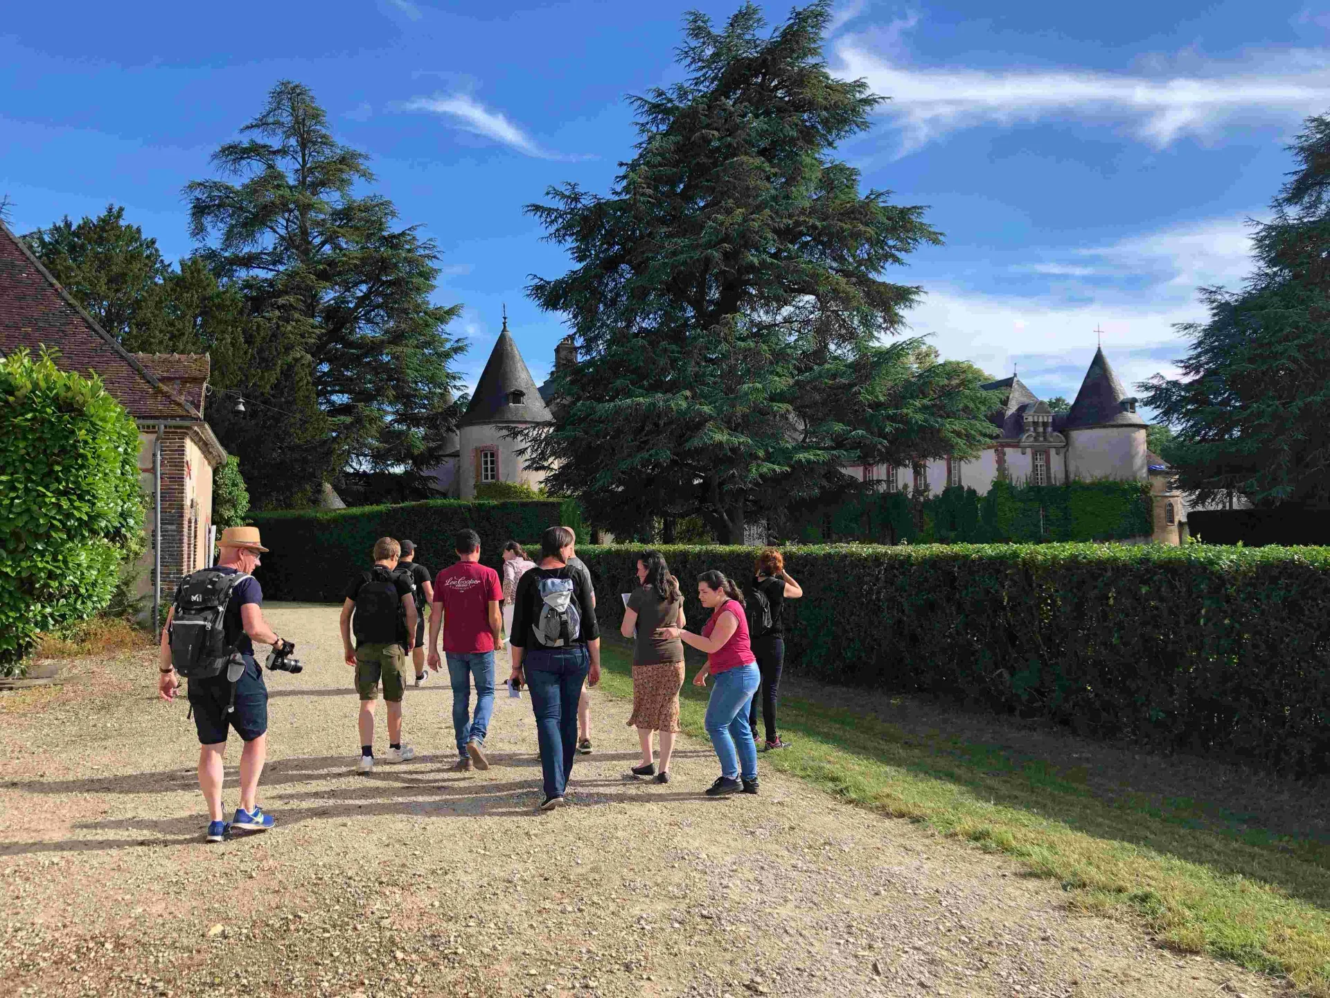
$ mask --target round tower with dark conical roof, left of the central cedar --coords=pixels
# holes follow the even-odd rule
[[[460,496],[475,499],[476,486],[487,482],[517,482],[537,488],[544,475],[527,471],[517,456],[524,444],[509,438],[508,431],[548,422],[549,409],[540,398],[504,315],[499,341],[471,395],[471,405],[458,423]]]

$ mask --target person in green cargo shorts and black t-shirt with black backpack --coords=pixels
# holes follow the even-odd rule
[[[360,695],[360,758],[356,770],[374,772],[374,708],[383,683],[388,704],[388,762],[406,762],[415,749],[402,744],[402,697],[411,669],[415,643],[415,585],[411,576],[396,571],[402,546],[392,538],[374,544],[374,567],[360,572],[346,587],[342,603],[342,648],[346,664],[355,669]],[[352,627],[355,647],[351,645]],[[408,673],[408,669],[411,671]]]

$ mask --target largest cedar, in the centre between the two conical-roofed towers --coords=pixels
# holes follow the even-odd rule
[[[593,522],[644,534],[701,514],[738,542],[841,487],[842,464],[988,439],[975,369],[879,342],[919,289],[878,274],[940,236],[833,157],[880,98],[829,75],[829,20],[815,3],[763,36],[753,4],[720,32],[689,13],[689,76],[633,98],[641,141],[612,196],[565,184],[528,206],[576,263],[529,293],[567,314],[581,361],[553,375],[556,422],[521,435]]]

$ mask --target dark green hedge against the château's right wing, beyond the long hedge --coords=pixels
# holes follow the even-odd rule
[[[789,532],[806,543],[1045,543],[1148,538],[1153,522],[1145,482],[1031,486],[999,479],[984,495],[959,487],[923,500],[864,492],[794,512]]]

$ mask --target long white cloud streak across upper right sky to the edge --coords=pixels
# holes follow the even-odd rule
[[[1233,125],[1294,124],[1330,104],[1330,49],[1321,48],[1225,63],[1186,53],[1185,73],[919,68],[886,55],[871,35],[846,36],[837,56],[841,75],[891,97],[880,110],[903,133],[902,154],[964,128],[1059,118],[1120,124],[1164,148]]]

